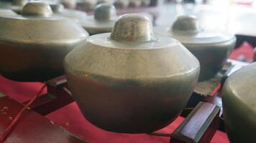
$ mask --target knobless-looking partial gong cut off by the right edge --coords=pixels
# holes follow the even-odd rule
[[[223,87],[224,122],[231,142],[256,142],[256,63],[234,72]]]

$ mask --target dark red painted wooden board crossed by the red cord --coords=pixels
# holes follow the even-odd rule
[[[22,104],[9,97],[0,98],[0,133],[6,129],[15,115],[22,109]],[[4,143],[81,143],[75,135],[63,127],[53,124],[40,114],[27,110],[22,115],[17,126],[10,132]]]

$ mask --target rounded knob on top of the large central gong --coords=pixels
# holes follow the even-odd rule
[[[116,41],[152,41],[152,24],[140,14],[124,14],[116,20],[110,38]]]

